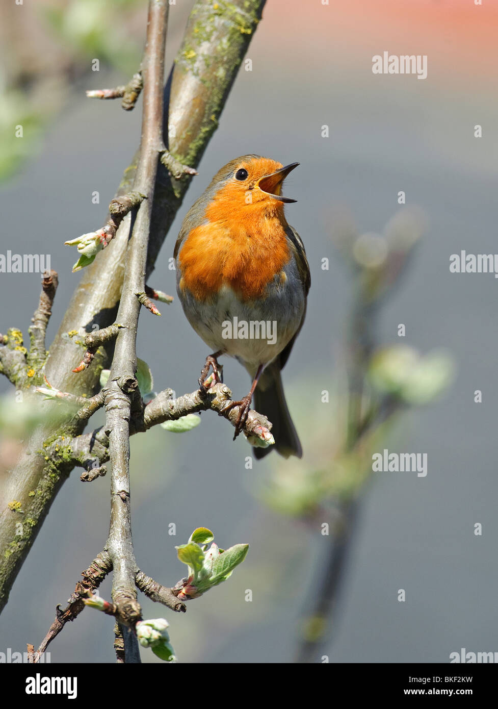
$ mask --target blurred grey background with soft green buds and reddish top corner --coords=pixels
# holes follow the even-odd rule
[[[192,6],[170,7],[168,67]],[[128,81],[145,12],[145,0],[1,10],[0,251],[50,253],[60,286],[49,342],[79,279],[76,251],[62,244],[103,224],[140,135],[140,101],[125,113],[84,89]],[[181,579],[174,546],[200,525],[221,547],[250,545],[233,576],[185,615],[141,597],[145,618],[169,620],[179,661],[448,662],[462,647],[498,651],[498,285],[490,274],[449,272],[453,253],[497,250],[497,22],[498,6],[471,0],[266,4],[247,53],[252,71],[239,71],[149,284],[176,295],[176,234],[219,167],[249,152],[300,162],[285,189],[298,203],[286,215],[305,242],[312,288],[284,384],[305,455],[272,453],[247,469],[247,442],[232,442],[211,413],[188,433],[157,427],[132,438],[133,537],[145,573]],[[427,78],[373,74],[384,51],[427,55]],[[0,274],[2,332],[15,325],[27,337],[39,291],[38,274]],[[177,299],[160,309],[160,320],[140,319],[139,357],[156,391],[193,391],[205,345]],[[225,362],[225,381],[235,396],[249,386],[237,362]],[[0,387],[9,411],[12,388]],[[8,427],[0,446],[5,474],[16,455]],[[371,454],[384,448],[427,454],[427,475],[372,473]],[[108,478],[81,484],[80,472],[13,586],[1,652],[38,646],[106,540]],[[333,559],[331,609],[322,596]],[[110,597],[109,580],[101,594]],[[113,662],[112,631],[112,618],[85,610],[51,644],[52,662]],[[142,649],[142,661],[159,660]]]

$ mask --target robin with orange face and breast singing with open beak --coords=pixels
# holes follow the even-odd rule
[[[302,447],[281,369],[304,323],[311,283],[305,247],[283,211],[297,200],[281,194],[298,164],[284,167],[261,155],[228,162],[186,214],[174,248],[183,311],[212,351],[200,374],[201,389],[210,367],[220,381],[218,357],[235,357],[252,385],[247,396],[230,403],[240,407],[234,440],[254,397],[254,408],[273,424],[274,447],[285,458],[302,457]],[[253,451],[261,459],[272,449]]]

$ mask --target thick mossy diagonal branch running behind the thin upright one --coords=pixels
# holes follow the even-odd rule
[[[233,0],[230,6],[219,4],[217,7],[200,0],[193,7],[183,44],[164,92],[164,105],[169,107],[169,118],[168,111],[164,116],[164,136],[168,137],[169,152],[180,162],[195,167],[202,157],[217,128],[218,118],[263,6],[264,0]],[[203,27],[202,33],[198,31],[199,26]],[[119,195],[130,191],[136,164],[137,157],[125,170]],[[147,274],[154,268],[190,179],[183,176],[176,180],[169,177],[164,166],[159,166],[152,205]],[[112,343],[98,350],[92,367],[81,374],[73,374],[71,369],[80,362],[81,350],[67,333],[74,330],[89,333],[94,329],[93,325],[106,328],[115,322],[129,228],[130,215],[123,219],[111,244],[98,253],[93,264],[84,269],[50,346],[43,373],[61,391],[72,391],[77,396],[93,396],[101,369],[108,367]],[[26,357],[9,347],[9,343],[6,347],[0,345],[0,370],[8,374],[11,381],[16,381],[16,385],[17,382],[22,386],[31,384],[26,378]],[[44,405],[47,410],[49,405],[52,406],[50,402]],[[52,501],[74,467],[72,438],[83,431],[84,425],[86,420],[73,417],[62,431],[59,424],[50,421],[39,427],[3,486],[0,501],[0,610],[9,597],[13,581]],[[59,437],[64,437],[63,447],[55,450],[51,443]],[[31,494],[33,492],[34,495]],[[13,499],[21,501],[22,509],[35,522],[21,536],[16,534],[18,519],[8,507],[8,502]]]

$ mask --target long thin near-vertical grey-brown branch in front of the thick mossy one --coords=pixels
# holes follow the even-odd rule
[[[142,73],[144,97],[142,113],[142,140],[133,191],[145,194],[137,209],[135,225],[128,245],[123,291],[117,321],[125,327],[120,330],[106,399],[106,432],[111,458],[111,529],[106,543],[113,561],[113,602],[123,619],[121,632],[125,646],[125,662],[140,662],[135,635],[130,632],[142,618],[135,590],[137,563],[133,551],[130,515],[130,430],[132,391],[136,389],[136,337],[140,303],[135,294],[145,291],[147,245],[150,214],[156,182],[158,149],[162,143],[162,91],[164,81],[164,50],[168,18],[168,0],[149,0],[147,40]],[[128,627],[123,627],[127,625]]]

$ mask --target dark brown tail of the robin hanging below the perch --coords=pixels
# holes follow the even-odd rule
[[[260,384],[263,385],[261,388]],[[265,369],[258,386],[256,386],[254,408],[271,421],[273,424],[271,432],[275,439],[274,446],[253,448],[256,458],[263,458],[273,448],[276,448],[284,458],[288,458],[290,455],[301,458],[302,447],[285,401],[280,369],[275,365],[270,365]]]

